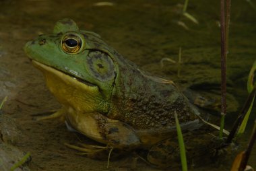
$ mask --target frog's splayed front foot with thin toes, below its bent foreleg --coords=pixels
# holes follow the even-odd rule
[[[100,146],[100,145],[88,145],[84,143],[79,143],[79,146],[71,145],[69,143],[64,143],[67,147],[79,151],[77,155],[86,156],[88,158],[104,160],[110,158],[110,153],[113,147]]]

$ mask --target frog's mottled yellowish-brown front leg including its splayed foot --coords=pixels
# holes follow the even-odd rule
[[[115,119],[107,118],[102,114],[92,112],[76,114],[75,116],[67,115],[66,119],[67,123],[79,133],[105,144],[105,146],[67,145],[72,149],[81,151],[81,154],[90,158],[102,158],[100,156],[106,158],[111,149],[128,151],[141,145],[139,137],[129,125]]]

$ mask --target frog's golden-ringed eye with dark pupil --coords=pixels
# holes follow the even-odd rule
[[[79,51],[82,46],[82,40],[79,36],[74,34],[68,34],[61,40],[61,46],[65,53],[75,54]]]

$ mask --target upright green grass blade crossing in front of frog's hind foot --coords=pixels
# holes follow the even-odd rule
[[[179,125],[179,120],[178,120],[176,111],[174,112],[174,116],[175,116],[175,123],[177,127],[177,135],[178,135],[180,155],[181,155],[181,166],[183,171],[187,171],[187,158],[186,158],[185,144],[184,144],[181,126]]]

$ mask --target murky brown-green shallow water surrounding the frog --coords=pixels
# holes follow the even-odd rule
[[[71,18],[79,28],[96,32],[124,57],[142,69],[172,79],[183,88],[211,92],[220,99],[219,1],[191,1],[187,11],[199,24],[183,15],[183,1],[0,1],[0,99],[8,96],[4,112],[15,119],[22,136],[16,142],[32,153],[31,170],[106,170],[106,162],[76,156],[63,143],[77,137],[57,121],[38,123],[33,116],[59,108],[44,86],[42,75],[32,67],[22,50],[37,34],[52,32],[55,22]],[[247,96],[247,77],[256,59],[256,11],[247,1],[232,1],[228,54],[228,116],[230,127]],[[178,60],[182,67],[160,60]],[[214,95],[213,95],[214,94]],[[246,145],[255,119],[255,106],[241,144]],[[73,140],[72,140],[73,139]],[[241,147],[243,149],[243,147]],[[130,159],[112,162],[110,170],[129,170]],[[256,150],[250,165],[256,168]],[[224,164],[220,170],[229,170]],[[137,170],[156,170],[138,164]],[[218,168],[202,168],[218,170]]]

